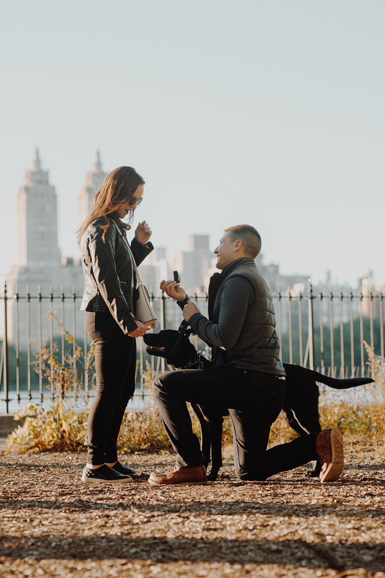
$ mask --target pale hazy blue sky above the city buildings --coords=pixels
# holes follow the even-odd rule
[[[384,283],[382,0],[13,0],[0,21],[1,274],[38,146],[65,255],[99,148],[145,178],[158,246],[249,223],[283,273]]]

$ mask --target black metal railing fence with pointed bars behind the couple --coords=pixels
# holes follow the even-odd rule
[[[357,290],[351,287],[320,286],[315,291],[311,282],[307,290],[302,287],[278,288],[273,295],[277,333],[280,340],[280,358],[284,362],[300,364],[319,370],[333,377],[353,377],[370,375],[373,368],[367,365],[364,340],[384,356],[384,312],[383,290],[375,291],[368,286]],[[208,295],[196,294],[190,298],[205,316],[208,315]],[[68,353],[72,354],[73,372],[78,376],[83,398],[92,393],[92,368],[81,367],[76,360],[76,347],[82,347],[87,357],[90,339],[84,329],[84,313],[80,312],[82,295],[72,291],[54,291],[52,287],[43,294],[18,292],[9,295],[6,284],[0,295],[3,309],[3,340],[0,362],[1,401],[8,413],[10,406],[20,406],[22,402],[47,399],[49,380],[43,374],[42,344],[57,355],[64,365]],[[151,295],[152,305],[158,315],[158,329],[177,329],[182,321],[182,311],[173,299],[162,292]],[[47,311],[55,311],[61,321],[56,327],[53,316],[46,317]],[[68,331],[72,343],[65,339]],[[209,354],[209,348],[197,336],[195,346]],[[56,344],[56,345],[55,345]],[[145,395],[145,372],[151,370],[151,377],[165,370],[162,358],[150,357],[138,339],[135,396]],[[32,351],[35,347],[35,353]],[[33,356],[35,359],[33,360]],[[146,364],[147,362],[147,364]],[[91,388],[90,388],[91,386]],[[51,391],[51,394],[53,392]],[[77,395],[76,392],[74,395]]]

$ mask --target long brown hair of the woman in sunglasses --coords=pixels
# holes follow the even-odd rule
[[[105,225],[101,225],[104,229],[102,239],[105,240],[106,231],[111,224],[112,213],[124,202],[129,201],[135,194],[136,189],[140,184],[145,184],[143,177],[139,175],[132,168],[132,166],[119,166],[106,176],[100,190],[94,198],[92,209],[84,220],[82,226],[77,231],[77,242],[80,246],[80,240],[86,234],[88,227],[95,221],[95,219],[104,217]],[[134,217],[134,209],[129,212],[128,223],[132,223]]]

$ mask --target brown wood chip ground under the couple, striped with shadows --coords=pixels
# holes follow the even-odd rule
[[[80,481],[84,454],[0,454],[0,574],[65,576],[385,577],[385,460],[346,443],[335,483],[303,466],[239,482],[231,451],[217,482],[154,487],[169,453],[120,455],[131,484]]]

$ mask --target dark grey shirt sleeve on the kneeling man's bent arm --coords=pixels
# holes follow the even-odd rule
[[[230,277],[224,282],[221,293],[219,323],[209,321],[201,313],[194,313],[188,324],[205,343],[230,349],[239,337],[247,308],[255,298],[256,291],[248,279]],[[180,306],[184,304],[180,303]]]

